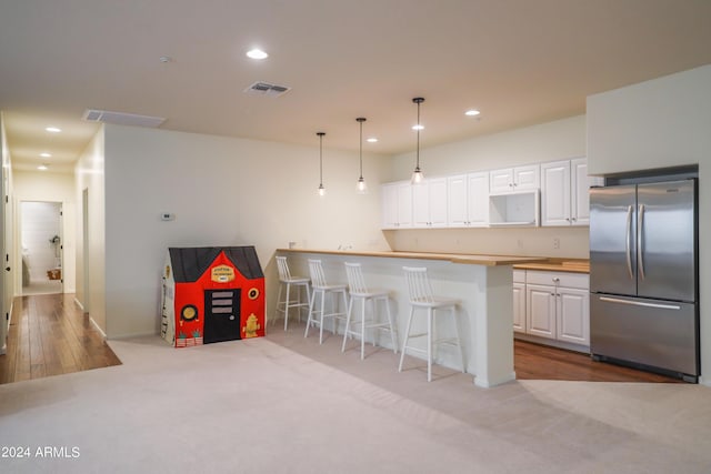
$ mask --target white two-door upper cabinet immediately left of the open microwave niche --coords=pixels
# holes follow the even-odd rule
[[[489,224],[489,173],[457,174],[447,179],[448,223],[452,228]]]

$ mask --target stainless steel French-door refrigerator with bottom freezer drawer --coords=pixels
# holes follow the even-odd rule
[[[697,382],[697,180],[590,190],[590,352]]]

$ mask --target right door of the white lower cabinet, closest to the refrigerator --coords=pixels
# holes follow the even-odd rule
[[[590,293],[585,290],[559,288],[557,306],[558,339],[590,345]]]

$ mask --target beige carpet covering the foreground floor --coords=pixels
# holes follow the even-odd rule
[[[2,473],[709,473],[711,390],[471,375],[303,326],[0,386]],[[54,457],[41,457],[49,446]],[[52,450],[53,448],[53,450]],[[17,450],[16,450],[17,452]]]

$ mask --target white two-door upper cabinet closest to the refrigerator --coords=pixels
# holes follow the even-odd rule
[[[542,225],[588,225],[589,189],[600,181],[588,177],[584,158],[542,163]]]

